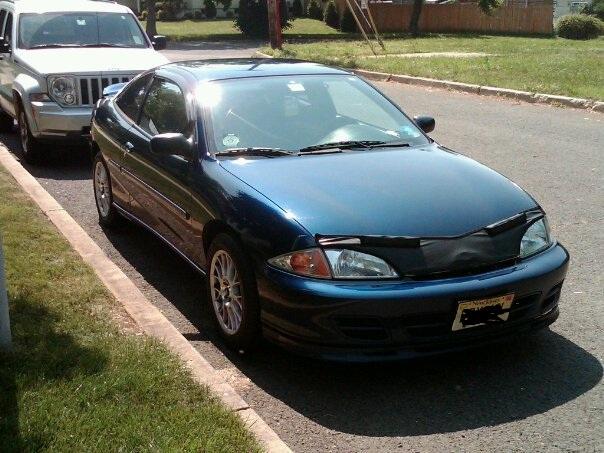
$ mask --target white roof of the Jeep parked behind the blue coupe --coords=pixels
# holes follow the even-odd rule
[[[113,1],[104,0],[14,0],[12,3],[17,13],[50,13],[50,12],[98,12],[126,13],[130,9]]]

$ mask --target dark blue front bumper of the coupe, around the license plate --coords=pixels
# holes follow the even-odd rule
[[[558,317],[569,255],[559,244],[504,269],[430,281],[325,281],[266,267],[259,278],[265,336],[331,360],[394,360],[480,346]],[[460,301],[514,293],[508,321],[452,332]]]

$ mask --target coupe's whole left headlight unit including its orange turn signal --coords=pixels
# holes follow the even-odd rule
[[[398,274],[381,258],[355,250],[314,248],[288,253],[268,260],[287,272],[315,278],[381,279]]]

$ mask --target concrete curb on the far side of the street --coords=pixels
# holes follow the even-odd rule
[[[262,52],[256,52],[255,56],[260,58],[273,58]],[[554,94],[531,93],[529,91],[512,90],[509,88],[497,88],[489,86],[473,85],[471,83],[452,82],[450,80],[429,79],[426,77],[415,77],[403,74],[390,74],[386,72],[367,71],[365,69],[352,69],[357,75],[368,80],[376,82],[397,82],[408,85],[420,85],[432,88],[443,88],[452,91],[461,91],[464,93],[480,94],[483,96],[498,96],[517,101],[549,104],[556,107],[572,107],[584,110],[593,110],[594,112],[604,113],[604,102],[591,99],[572,98],[567,96],[557,96]]]

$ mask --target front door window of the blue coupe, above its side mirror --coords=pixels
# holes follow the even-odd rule
[[[183,132],[187,108],[181,89],[173,82],[156,78],[149,88],[139,126],[151,135]]]

